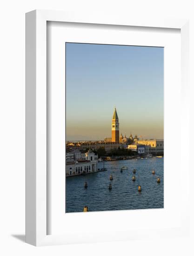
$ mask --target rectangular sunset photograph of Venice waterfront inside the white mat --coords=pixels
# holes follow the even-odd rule
[[[64,47],[65,213],[164,208],[164,47]]]

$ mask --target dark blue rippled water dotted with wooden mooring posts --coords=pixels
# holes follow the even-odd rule
[[[121,173],[122,166],[127,166],[128,170]],[[103,162],[98,163],[98,168],[103,168]],[[82,212],[84,206],[88,211],[164,207],[163,158],[105,162],[105,168],[107,171],[66,178],[66,212]],[[133,169],[136,169],[135,174]],[[113,175],[112,181],[110,175]],[[161,183],[157,183],[157,177],[161,178]],[[87,189],[84,182],[88,184]],[[112,190],[108,189],[109,183]],[[141,192],[138,191],[139,185]]]

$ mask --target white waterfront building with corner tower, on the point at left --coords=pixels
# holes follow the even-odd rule
[[[98,171],[98,155],[89,149],[85,160],[66,162],[66,176],[81,175]]]

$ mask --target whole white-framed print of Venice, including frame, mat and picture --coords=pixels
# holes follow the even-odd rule
[[[187,20],[27,13],[27,243],[188,232],[187,39]]]

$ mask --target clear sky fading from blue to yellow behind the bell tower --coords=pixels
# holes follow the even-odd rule
[[[66,43],[67,140],[163,138],[163,47]]]

